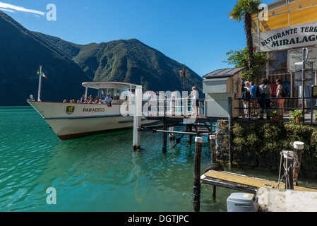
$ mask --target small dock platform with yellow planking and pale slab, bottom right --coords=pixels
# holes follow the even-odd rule
[[[317,211],[317,189],[302,186],[285,189],[284,183],[217,170],[205,172],[201,183],[256,194],[261,212]]]

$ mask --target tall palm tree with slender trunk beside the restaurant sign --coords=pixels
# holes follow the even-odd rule
[[[261,10],[258,6],[262,4],[262,0],[238,0],[237,4],[232,8],[229,17],[234,21],[244,20],[244,30],[246,32],[246,46],[248,47],[249,57],[249,78],[253,79],[253,40],[252,40],[252,19],[253,14],[259,13]]]

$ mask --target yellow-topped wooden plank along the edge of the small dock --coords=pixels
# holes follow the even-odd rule
[[[234,174],[232,172],[215,170],[205,172],[205,174],[203,174],[203,177],[201,177],[201,181],[206,184],[217,183],[218,186],[221,186],[222,183],[232,184],[241,189],[276,188],[278,185],[278,182],[273,182],[266,179],[248,177],[241,174]],[[285,189],[285,184],[280,183],[278,189]],[[317,192],[316,189],[309,189],[301,186],[294,186],[294,190]]]

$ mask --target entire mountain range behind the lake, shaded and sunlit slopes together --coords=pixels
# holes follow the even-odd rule
[[[27,105],[37,97],[42,65],[41,100],[79,99],[84,81],[124,81],[144,90],[181,91],[183,64],[157,49],[131,40],[75,44],[59,37],[32,32],[0,11],[0,106]],[[186,90],[202,93],[203,78],[186,68]]]

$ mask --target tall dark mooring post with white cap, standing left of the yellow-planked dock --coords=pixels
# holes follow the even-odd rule
[[[201,147],[203,138],[195,138],[195,159],[193,169],[193,211],[199,212],[201,209]]]

